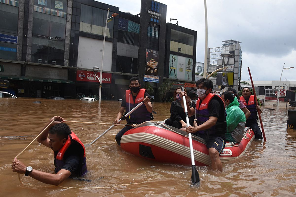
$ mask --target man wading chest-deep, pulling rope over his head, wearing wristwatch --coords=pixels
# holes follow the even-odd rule
[[[62,117],[54,116],[49,123],[53,120],[54,122],[37,138],[37,141],[53,150],[56,174],[35,170],[30,166],[27,167],[16,158],[12,162],[13,172],[25,174],[25,176],[51,185],[59,185],[67,178],[86,174],[84,145],[70,130],[69,126],[63,123]]]

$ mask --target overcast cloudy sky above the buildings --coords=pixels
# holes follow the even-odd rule
[[[140,13],[140,0],[99,0]],[[196,61],[204,62],[205,10],[203,0],[159,0],[167,5],[167,22],[197,31]],[[208,47],[222,46],[222,40],[242,42],[242,80],[296,81],[296,1],[294,0],[207,0]],[[176,23],[172,21],[172,23]],[[258,79],[257,79],[258,78]]]

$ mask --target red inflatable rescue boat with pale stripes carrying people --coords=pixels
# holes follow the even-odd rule
[[[255,139],[251,128],[245,128],[240,143],[226,143],[220,159],[227,162],[244,154]],[[196,166],[210,165],[210,156],[202,138],[192,135]],[[146,122],[128,130],[121,138],[123,150],[139,157],[158,162],[191,165],[188,134],[177,128],[155,122]]]

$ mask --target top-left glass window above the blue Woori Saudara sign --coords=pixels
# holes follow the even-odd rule
[[[18,7],[0,4],[0,32],[17,35]]]

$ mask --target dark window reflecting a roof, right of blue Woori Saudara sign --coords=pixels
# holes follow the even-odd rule
[[[63,41],[33,37],[31,61],[39,64],[64,65],[64,48]]]

